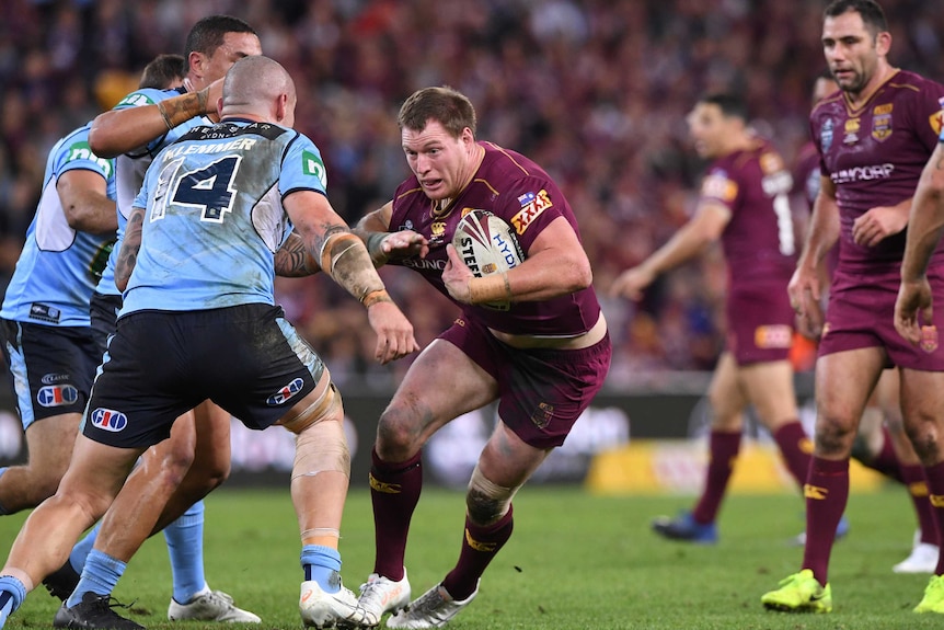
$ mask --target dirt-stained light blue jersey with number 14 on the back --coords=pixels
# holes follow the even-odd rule
[[[191,130],[154,158],[135,199],[146,213],[122,314],[274,305],[275,252],[291,230],[281,199],[325,186],[298,131],[242,119]]]

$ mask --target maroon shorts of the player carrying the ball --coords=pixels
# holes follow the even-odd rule
[[[461,323],[460,323],[461,321]],[[534,448],[561,446],[603,386],[610,369],[610,335],[583,350],[518,350],[481,323],[457,320],[448,341],[498,382],[498,416]]]

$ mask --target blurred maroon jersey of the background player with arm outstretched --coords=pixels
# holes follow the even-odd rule
[[[702,201],[722,203],[732,217],[722,233],[730,289],[780,280],[783,290],[796,266],[790,191],[793,177],[764,140],[715,160],[701,190]]]

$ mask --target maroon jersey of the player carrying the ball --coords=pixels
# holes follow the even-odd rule
[[[457,224],[471,209],[488,210],[507,221],[526,259],[541,230],[557,217],[564,217],[579,237],[567,199],[543,169],[497,145],[479,145],[485,149],[485,157],[472,182],[445,207],[423,193],[416,176],[400,184],[393,197],[390,230],[418,232],[430,240],[430,248],[425,259],[413,256],[391,261],[391,264],[419,272],[446,297],[449,297],[442,283],[442,270],[448,260],[446,243],[452,241]],[[600,305],[591,287],[545,301],[514,302],[507,311],[459,306],[464,317],[509,334],[576,336],[590,330],[600,317]]]

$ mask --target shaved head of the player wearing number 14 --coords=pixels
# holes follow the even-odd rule
[[[227,72],[220,115],[290,127],[295,122],[295,82],[286,69],[278,61],[254,55],[240,59]]]

